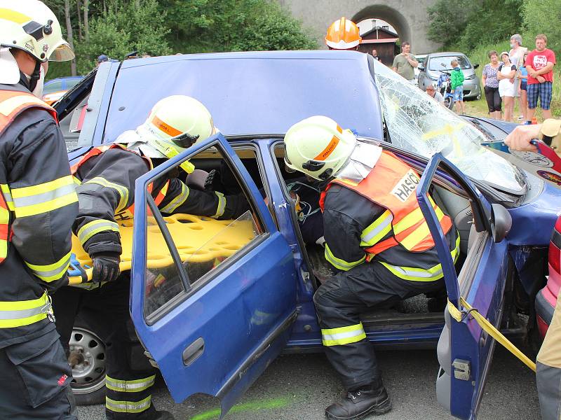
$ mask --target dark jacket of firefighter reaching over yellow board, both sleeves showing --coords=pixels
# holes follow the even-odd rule
[[[80,183],[76,187],[80,209],[72,230],[90,256],[121,253],[116,221],[130,216],[126,209],[134,204],[135,181],[158,163],[161,160],[149,160],[123,148],[109,148],[79,165],[74,176]],[[168,172],[153,183],[152,197],[157,197],[165,188],[165,197],[158,204],[163,214],[185,213],[231,219],[248,209],[243,195],[225,196],[195,190],[177,175],[177,171]]]

